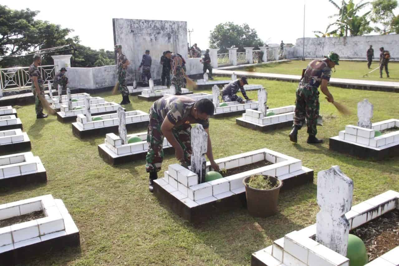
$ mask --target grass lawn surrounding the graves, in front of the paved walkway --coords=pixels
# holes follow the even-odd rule
[[[281,66],[298,63],[302,64],[294,61]],[[294,103],[296,83],[263,79],[249,82],[267,88],[268,105],[272,108]],[[215,159],[265,147],[301,159],[304,166],[314,169],[315,178],[311,184],[281,193],[275,216],[254,218],[246,209],[238,208],[200,226],[182,220],[148,192],[144,159],[115,167],[108,165],[97,150],[105,136],[80,140],[72,135],[70,123],[60,123],[55,116],[36,120],[34,105],[16,107],[32,141],[32,152],[40,156],[47,170],[48,182],[22,189],[2,188],[0,204],[52,194],[63,200],[81,236],[79,249],[49,252],[24,265],[250,265],[251,253],[316,221],[318,171],[339,165],[354,181],[354,204],[389,189],[399,191],[399,158],[373,162],[328,150],[329,137],[338,135],[345,125],[356,125],[359,101],[368,98],[374,104],[373,121],[377,122],[399,117],[397,105],[387,104],[387,99],[391,103],[399,101],[399,93],[336,87],[330,90],[336,101],[354,113],[342,117],[320,97],[320,113],[325,119],[324,126],[318,127],[318,137],[324,139],[322,145],[306,144],[306,129],[300,131],[298,144],[293,144],[288,140],[290,128],[261,133],[236,125],[238,115],[211,119]],[[257,92],[250,91],[248,95],[256,99]],[[107,101],[121,100],[120,95],[111,92],[96,96]],[[127,110],[148,111],[152,104],[136,96],[130,99],[132,104],[125,105]],[[128,133],[141,131],[146,129]],[[172,163],[177,160],[167,155],[162,170]],[[163,176],[162,171],[159,176]]]

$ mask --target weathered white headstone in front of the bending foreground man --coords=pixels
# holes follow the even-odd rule
[[[197,124],[191,129],[191,171],[198,175],[198,183],[205,182],[208,134],[202,125]]]

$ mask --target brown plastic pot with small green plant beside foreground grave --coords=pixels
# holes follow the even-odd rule
[[[264,177],[269,177],[273,184],[279,182],[279,186],[275,189],[254,189],[247,184],[249,177],[243,180],[248,212],[255,217],[268,217],[277,212],[277,203],[279,201],[282,181],[276,177],[267,175],[264,175]]]

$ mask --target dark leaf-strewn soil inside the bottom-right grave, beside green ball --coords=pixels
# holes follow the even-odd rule
[[[350,233],[363,240],[370,262],[399,246],[399,211],[387,212]]]

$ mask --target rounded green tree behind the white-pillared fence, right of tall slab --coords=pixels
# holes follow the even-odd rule
[[[255,29],[248,24],[237,25],[233,22],[225,22],[215,26],[209,35],[209,47],[219,48],[219,52],[226,53],[227,48],[237,47],[239,52],[245,51],[244,47],[263,46]]]

